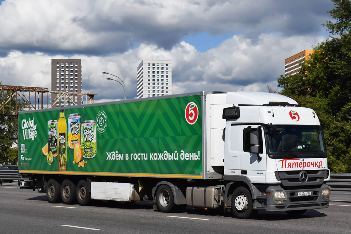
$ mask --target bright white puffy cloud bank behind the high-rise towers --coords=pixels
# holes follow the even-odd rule
[[[172,60],[173,94],[197,91],[261,91],[276,86],[284,74],[284,59],[323,37],[261,34],[258,40],[235,35],[218,47],[200,53],[184,41],[170,50],[153,44],[141,44],[124,53],[108,56],[76,54],[69,58],[82,60],[82,92],[97,93],[95,102],[122,100],[124,91],[109,75],[119,76],[126,85],[127,99],[137,96],[137,66],[143,59]],[[0,58],[0,80],[3,85],[51,87],[51,59],[68,58],[45,53],[12,51]],[[111,78],[113,78],[111,76]]]

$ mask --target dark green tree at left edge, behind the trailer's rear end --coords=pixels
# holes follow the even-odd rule
[[[1,85],[1,81],[0,81]],[[9,91],[3,93],[0,92],[0,105],[7,100],[6,97],[9,96]],[[17,100],[18,106],[21,107],[21,101]],[[1,164],[16,164],[18,161],[18,151],[17,147],[12,147],[16,144],[17,134],[18,134],[18,116],[11,115],[15,113],[16,97],[11,98],[11,108],[7,103],[5,109],[8,110],[5,114],[0,114],[0,163]],[[21,110],[20,108],[18,110]]]

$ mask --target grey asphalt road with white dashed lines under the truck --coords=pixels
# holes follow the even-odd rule
[[[187,207],[161,213],[151,202],[94,201],[90,206],[51,204],[46,194],[0,186],[0,233],[351,233],[351,192],[331,192],[330,207],[293,218],[285,212],[258,212],[240,220],[221,210]],[[90,229],[85,229],[90,228]]]

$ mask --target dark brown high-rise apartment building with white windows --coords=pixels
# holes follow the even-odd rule
[[[51,91],[81,93],[82,92],[82,66],[80,59],[51,59]],[[56,98],[56,94],[51,94],[51,100]],[[79,95],[69,94],[71,99],[64,101],[57,100],[53,107],[69,105],[80,105]],[[74,102],[74,104],[73,104]]]

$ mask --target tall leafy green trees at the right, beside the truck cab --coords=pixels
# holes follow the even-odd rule
[[[313,48],[299,73],[280,76],[281,94],[316,111],[324,128],[331,172],[351,172],[351,1],[332,0],[331,37]]]

